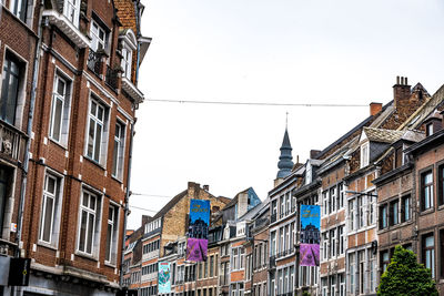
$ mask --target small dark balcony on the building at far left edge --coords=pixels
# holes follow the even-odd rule
[[[0,122],[0,153],[13,160],[22,159],[27,135],[16,127]]]

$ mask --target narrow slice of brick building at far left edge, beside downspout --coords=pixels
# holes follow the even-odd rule
[[[38,82],[39,6],[0,4],[0,294],[9,295],[10,259],[20,253],[30,129]]]

